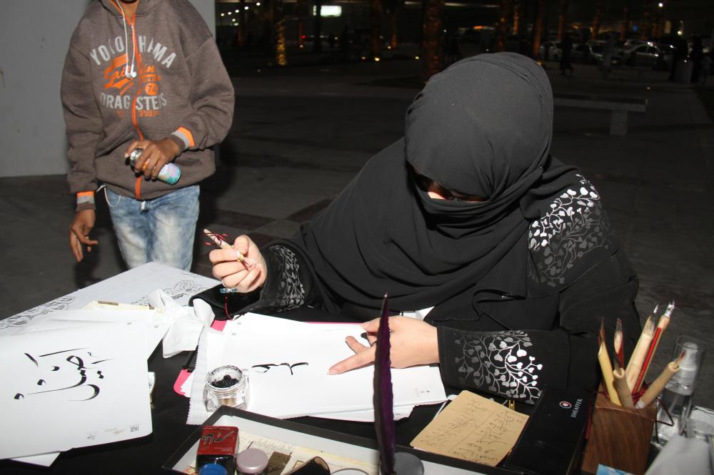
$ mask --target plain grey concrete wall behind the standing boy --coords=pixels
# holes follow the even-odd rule
[[[59,99],[72,31],[91,0],[2,0],[0,176],[66,173]],[[191,0],[215,32],[214,0]]]

